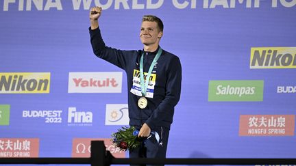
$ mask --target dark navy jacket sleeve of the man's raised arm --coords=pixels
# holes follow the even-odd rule
[[[99,28],[92,30],[89,27],[89,32],[93,53],[95,53],[97,57],[109,61],[111,64],[125,70],[128,62],[126,59],[127,51],[112,49],[106,46],[105,42],[103,42],[103,38],[101,37],[101,31]]]

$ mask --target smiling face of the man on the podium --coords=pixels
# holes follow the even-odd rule
[[[159,44],[162,31],[155,21],[143,21],[140,28],[140,40],[145,46]]]

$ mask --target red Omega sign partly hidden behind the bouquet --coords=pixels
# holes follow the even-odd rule
[[[90,157],[90,141],[104,141],[106,150],[117,158],[125,158],[125,152],[120,151],[119,148],[113,146],[112,141],[108,138],[97,139],[73,139],[72,157]]]

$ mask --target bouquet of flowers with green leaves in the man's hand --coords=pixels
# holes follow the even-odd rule
[[[143,141],[138,139],[138,130],[132,127],[122,127],[116,133],[112,133],[111,141],[120,150],[127,151],[138,148]]]

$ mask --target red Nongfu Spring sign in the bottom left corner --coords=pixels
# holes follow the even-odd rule
[[[39,139],[0,138],[0,157],[38,157]]]

